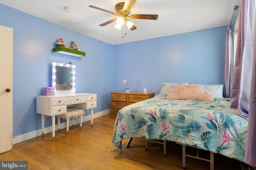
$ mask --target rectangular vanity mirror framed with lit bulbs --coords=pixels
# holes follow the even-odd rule
[[[75,94],[75,65],[52,63],[52,87],[55,95]]]

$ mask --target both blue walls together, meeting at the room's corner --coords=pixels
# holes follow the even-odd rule
[[[94,113],[110,109],[110,92],[125,90],[124,79],[131,91],[155,94],[162,82],[223,84],[226,26],[110,45],[3,4],[0,25],[14,31],[13,136],[41,129],[36,96],[50,85],[52,62],[76,65],[76,92],[97,93]],[[52,53],[60,38],[66,47],[75,41],[86,57]]]

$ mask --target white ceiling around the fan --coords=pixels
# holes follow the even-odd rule
[[[130,19],[137,27],[133,31],[125,25],[118,30],[115,23],[98,26],[116,16],[88,7],[116,12],[115,4],[124,1],[0,0],[0,3],[112,45],[229,25],[233,7],[240,6],[240,0],[137,0],[130,14],[158,14],[158,19]],[[70,6],[72,12],[65,12],[64,6]]]

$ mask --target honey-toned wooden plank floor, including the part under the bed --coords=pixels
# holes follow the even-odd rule
[[[11,151],[0,154],[0,160],[27,160],[30,170],[182,170],[182,146],[173,142],[167,142],[167,156],[161,144],[150,143],[146,151],[143,138],[133,139],[127,149],[125,139],[122,152],[111,151],[114,123],[115,119],[104,115],[93,120],[93,127],[86,121],[82,130],[79,125],[70,127],[68,135],[66,128],[56,131],[55,141],[52,133],[47,133],[13,145]],[[210,170],[210,163],[186,158],[186,169]],[[241,168],[239,161],[214,154],[214,169]]]

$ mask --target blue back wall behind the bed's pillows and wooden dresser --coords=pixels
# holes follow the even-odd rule
[[[223,84],[226,28],[216,27],[114,46],[114,90],[159,94],[162,82]]]

